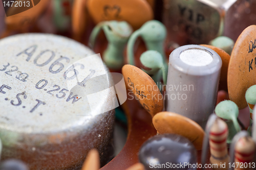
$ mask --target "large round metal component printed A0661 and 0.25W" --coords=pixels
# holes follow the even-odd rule
[[[0,51],[1,158],[20,159],[30,169],[81,169],[87,152],[96,148],[101,163],[109,161],[115,90],[94,97],[95,89],[88,88],[98,101],[89,104],[87,96],[68,87],[69,81],[86,86],[89,78],[106,74],[101,58],[74,40],[49,34],[4,38]],[[106,80],[111,87],[110,77]],[[95,114],[95,108],[105,112]]]

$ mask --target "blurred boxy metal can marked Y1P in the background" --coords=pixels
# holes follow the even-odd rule
[[[217,36],[236,41],[256,22],[254,0],[164,0],[163,23],[167,41],[208,44]]]

